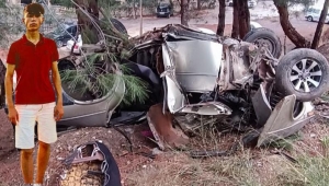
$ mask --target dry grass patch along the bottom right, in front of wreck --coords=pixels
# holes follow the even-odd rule
[[[124,174],[124,184],[134,186],[327,186],[329,183],[329,137],[326,132],[307,138],[317,124],[261,149],[240,148],[228,156],[192,159],[188,152],[169,151],[148,165]],[[306,130],[306,131],[305,131]],[[327,131],[327,130],[326,130]],[[204,128],[192,138],[193,150],[226,150],[239,139],[237,133],[223,135]],[[316,147],[315,144],[320,146]],[[273,149],[291,154],[272,153]]]

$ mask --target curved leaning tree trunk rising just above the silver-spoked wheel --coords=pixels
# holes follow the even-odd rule
[[[290,22],[290,15],[287,11],[287,2],[282,0],[274,0],[274,5],[277,9],[280,15],[280,23],[284,34],[295,44],[296,48],[309,48],[310,42],[306,40]]]

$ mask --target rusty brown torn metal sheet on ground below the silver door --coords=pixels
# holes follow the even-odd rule
[[[182,148],[189,143],[189,137],[173,125],[173,116],[169,112],[162,113],[162,104],[149,108],[147,120],[159,149]]]

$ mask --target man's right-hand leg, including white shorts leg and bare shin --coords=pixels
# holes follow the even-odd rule
[[[37,113],[37,175],[36,184],[43,184],[44,175],[50,156],[50,143],[57,140],[56,121],[54,118],[55,103],[43,104]]]

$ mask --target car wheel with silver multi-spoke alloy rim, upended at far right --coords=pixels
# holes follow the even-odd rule
[[[329,88],[329,65],[318,51],[297,48],[283,56],[275,69],[277,91],[302,102],[319,97]]]

